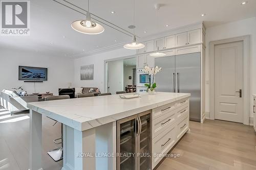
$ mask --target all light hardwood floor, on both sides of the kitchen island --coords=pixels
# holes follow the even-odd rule
[[[29,114],[15,114],[0,109],[0,170],[28,170]],[[45,170],[60,170],[62,161],[52,160],[47,151],[58,148],[53,140],[60,136],[60,123],[42,119],[42,166]],[[204,124],[190,122],[191,134],[186,134],[157,170],[229,170],[256,169],[256,135],[252,127],[221,120],[206,120]]]

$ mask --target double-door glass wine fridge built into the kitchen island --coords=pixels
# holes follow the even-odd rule
[[[117,170],[150,170],[151,111],[117,121]]]

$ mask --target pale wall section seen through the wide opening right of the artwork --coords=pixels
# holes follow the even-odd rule
[[[123,60],[108,62],[109,92],[123,91]]]

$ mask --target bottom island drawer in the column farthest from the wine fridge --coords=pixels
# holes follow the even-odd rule
[[[177,139],[179,140],[188,129],[188,112],[179,118],[176,128]]]

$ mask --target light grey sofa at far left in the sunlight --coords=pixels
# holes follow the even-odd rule
[[[16,112],[29,110],[27,103],[38,102],[37,95],[19,96],[15,90],[1,91],[1,106],[11,112],[11,115]]]

